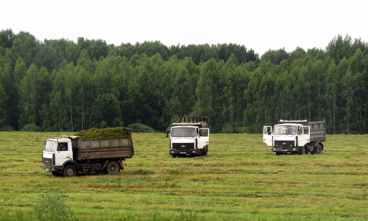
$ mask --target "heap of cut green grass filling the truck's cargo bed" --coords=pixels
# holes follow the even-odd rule
[[[128,137],[126,127],[107,127],[103,129],[92,128],[89,130],[79,131],[75,136],[79,136],[82,139],[107,139],[107,138],[121,138]]]

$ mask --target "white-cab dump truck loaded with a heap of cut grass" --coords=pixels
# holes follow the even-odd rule
[[[75,136],[45,141],[42,169],[70,177],[79,172],[119,172],[122,161],[132,158],[132,130],[125,127],[90,129]]]

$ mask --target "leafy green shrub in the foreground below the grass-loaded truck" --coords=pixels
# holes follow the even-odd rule
[[[47,193],[40,196],[33,207],[37,220],[73,220],[62,191],[49,188]]]

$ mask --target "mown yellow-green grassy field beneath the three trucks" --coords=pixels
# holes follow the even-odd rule
[[[46,138],[0,132],[0,219],[35,219],[57,188],[77,220],[367,220],[367,135],[328,135],[322,155],[276,156],[257,134],[211,134],[208,156],[169,156],[165,134],[133,134],[117,174],[54,177]],[[10,199],[8,199],[10,198]],[[8,199],[8,200],[7,200]]]

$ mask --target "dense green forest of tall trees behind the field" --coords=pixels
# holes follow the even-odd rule
[[[80,131],[177,116],[210,117],[212,133],[261,133],[284,120],[326,120],[327,133],[365,134],[368,43],[337,35],[325,49],[160,41],[38,40],[0,31],[0,131]]]

